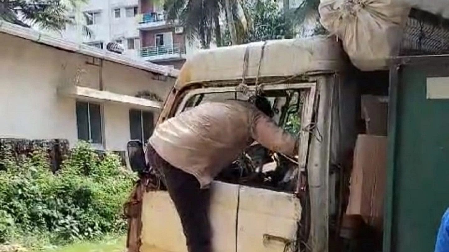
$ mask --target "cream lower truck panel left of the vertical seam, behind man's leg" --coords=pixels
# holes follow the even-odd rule
[[[235,251],[238,185],[213,182],[210,219],[214,252]],[[180,219],[167,192],[147,192],[142,205],[141,252],[187,252]]]

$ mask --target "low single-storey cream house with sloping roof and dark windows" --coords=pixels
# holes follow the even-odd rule
[[[0,40],[0,138],[124,151],[150,137],[178,73],[4,21]]]

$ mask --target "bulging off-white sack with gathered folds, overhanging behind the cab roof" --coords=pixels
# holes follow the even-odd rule
[[[343,42],[363,71],[382,69],[396,56],[410,8],[395,0],[321,0],[321,24]]]

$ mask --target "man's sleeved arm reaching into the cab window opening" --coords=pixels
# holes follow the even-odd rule
[[[251,125],[251,137],[264,147],[286,154],[298,155],[298,140],[296,137],[279,128],[274,121],[262,112],[255,112]]]

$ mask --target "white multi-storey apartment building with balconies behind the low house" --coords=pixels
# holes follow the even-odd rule
[[[195,43],[186,47],[183,27],[167,21],[163,1],[89,0],[74,9],[71,18],[75,25],[51,35],[104,50],[107,43],[117,42],[123,55],[174,68],[184,64],[186,53],[196,50]]]

